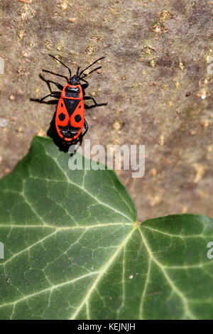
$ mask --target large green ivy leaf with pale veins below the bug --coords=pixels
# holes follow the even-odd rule
[[[35,137],[0,181],[0,318],[213,318],[212,220],[139,224],[113,171],[69,158]]]

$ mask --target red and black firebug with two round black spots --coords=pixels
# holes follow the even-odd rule
[[[58,60],[58,58],[55,58],[53,55],[50,55],[50,57]],[[69,70],[69,78],[65,75],[59,75],[48,70],[43,70],[43,72],[48,72],[53,75],[64,77],[67,80],[67,84],[64,86],[52,80],[45,80],[40,75],[41,79],[48,83],[48,87],[50,88],[51,93],[37,101],[43,102],[43,100],[47,97],[57,98],[56,102],[58,103],[58,106],[55,113],[55,129],[64,144],[76,144],[77,141],[80,141],[80,139],[82,139],[82,137],[87,133],[88,124],[86,119],[84,118],[84,109],[107,105],[107,103],[98,104],[95,101],[94,97],[85,96],[84,93],[84,90],[89,86],[89,83],[84,80],[84,77],[96,70],[99,70],[99,68],[102,68],[102,66],[94,68],[94,70],[90,71],[88,74],[85,74],[84,71],[97,63],[99,60],[102,60],[103,58],[104,57],[95,60],[94,63],[90,64],[82,71],[80,71],[80,67],[78,66],[75,75],[72,75],[71,70],[67,67],[67,65],[58,60],[59,63],[61,63],[63,66],[65,66],[65,68]],[[84,83],[81,84],[80,81],[83,81]],[[51,90],[50,83],[55,84],[61,92],[53,92]],[[90,106],[84,104],[84,101],[88,99],[92,99],[94,104]],[[84,132],[82,132],[83,129],[85,129]]]

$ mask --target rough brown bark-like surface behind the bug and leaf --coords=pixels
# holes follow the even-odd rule
[[[88,92],[107,107],[87,112],[92,144],[145,144],[146,176],[119,172],[139,219],[213,215],[213,2],[207,0],[1,0],[1,176],[45,134],[55,106],[30,102],[66,73],[107,55]],[[52,75],[45,77],[53,79]],[[62,80],[59,80],[62,82]]]

